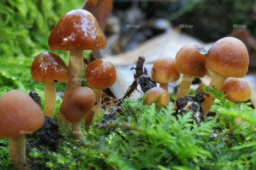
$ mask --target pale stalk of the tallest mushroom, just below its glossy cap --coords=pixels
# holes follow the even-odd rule
[[[69,70],[70,80],[66,84],[64,96],[71,90],[81,86],[83,69],[83,50],[70,50]]]

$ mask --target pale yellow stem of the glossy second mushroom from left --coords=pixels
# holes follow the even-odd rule
[[[45,116],[53,117],[55,114],[56,107],[56,84],[55,83],[45,83],[45,108],[43,114]]]

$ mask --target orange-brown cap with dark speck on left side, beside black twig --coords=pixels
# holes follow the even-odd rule
[[[151,70],[151,77],[156,83],[175,82],[180,76],[176,69],[176,60],[171,57],[158,58]]]

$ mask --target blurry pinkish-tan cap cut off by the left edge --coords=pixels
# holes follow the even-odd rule
[[[41,108],[26,93],[11,90],[0,98],[0,138],[24,135],[45,122]]]

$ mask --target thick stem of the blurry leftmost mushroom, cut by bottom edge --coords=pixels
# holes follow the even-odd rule
[[[9,152],[13,165],[19,170],[31,170],[26,157],[25,135],[9,138]]]

